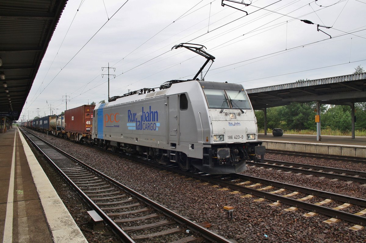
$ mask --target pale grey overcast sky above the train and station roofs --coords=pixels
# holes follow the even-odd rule
[[[180,43],[216,57],[205,81],[246,89],[366,68],[366,0],[224,3],[248,15],[221,0],[69,0],[20,120],[107,101],[108,63],[110,97],[191,79],[206,59]]]

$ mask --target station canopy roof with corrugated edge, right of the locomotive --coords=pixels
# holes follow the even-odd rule
[[[252,88],[247,93],[255,110],[292,102],[320,101],[329,105],[366,102],[366,73]]]

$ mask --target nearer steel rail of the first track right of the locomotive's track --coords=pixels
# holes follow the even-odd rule
[[[299,169],[299,168],[291,168],[291,167],[284,167],[284,166],[276,166],[273,164],[263,164],[263,163],[254,163],[254,162],[247,162],[247,165],[273,168],[276,170],[286,170],[286,171],[292,171],[292,172],[308,174],[308,175],[324,176],[324,177],[329,177],[329,178],[333,178],[333,179],[341,179],[341,180],[345,180],[345,181],[355,181],[355,182],[366,184],[366,178],[353,177],[353,176],[349,176],[349,175],[331,174],[331,173],[327,173],[327,172],[304,170],[304,169]]]

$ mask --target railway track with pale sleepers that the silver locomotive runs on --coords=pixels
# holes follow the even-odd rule
[[[93,147],[95,148],[95,147]],[[103,149],[101,149],[103,150]],[[221,186],[222,190],[232,190],[230,193],[244,193],[240,197],[250,198],[258,197],[256,201],[264,200],[272,201],[271,206],[279,206],[285,204],[290,206],[287,211],[302,208],[308,210],[306,217],[323,214],[330,217],[328,223],[344,220],[352,222],[355,225],[352,229],[362,229],[361,225],[366,225],[366,200],[355,197],[339,195],[325,191],[319,191],[302,186],[290,185],[281,182],[271,181],[262,178],[250,177],[242,174],[229,175],[208,175],[205,173],[189,173],[181,171],[177,166],[164,166],[146,159],[144,156],[134,156],[123,152],[105,152],[119,155],[126,159],[145,163],[150,166],[159,167],[161,169],[172,171],[174,173],[183,174],[186,177],[192,177],[205,181],[213,186]],[[262,165],[262,164],[261,164]],[[257,163],[258,166],[258,163]],[[280,166],[280,168],[283,168]],[[342,211],[346,210],[346,211]]]

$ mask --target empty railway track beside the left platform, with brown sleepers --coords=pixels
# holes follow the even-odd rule
[[[197,224],[22,131],[93,208],[94,224],[101,217],[122,242],[230,242],[205,228],[208,222]]]

